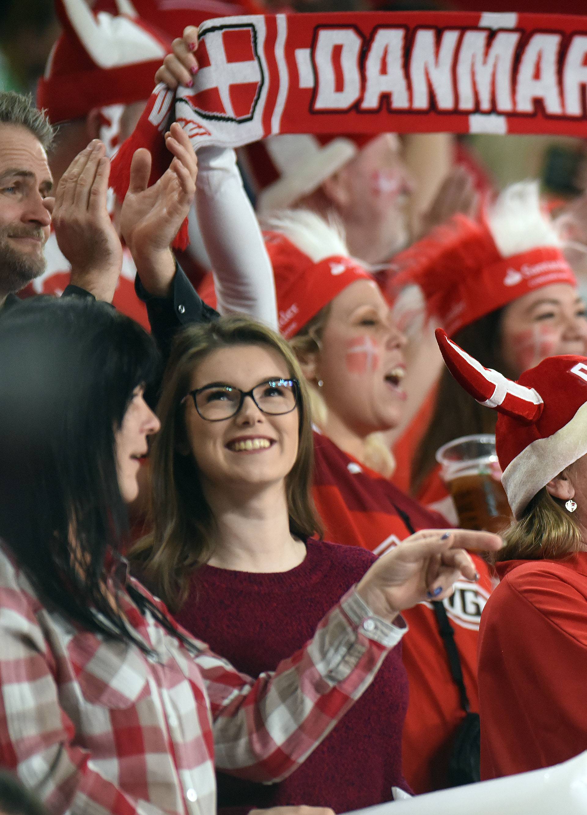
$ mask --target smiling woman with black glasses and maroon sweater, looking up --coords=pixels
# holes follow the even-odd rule
[[[131,562],[188,631],[250,676],[302,647],[376,560],[324,542],[311,499],[307,385],[287,342],[245,318],[179,335],[152,448],[152,533]],[[408,683],[398,649],[353,710],[278,785],[218,776],[220,808],[328,805],[406,789]]]

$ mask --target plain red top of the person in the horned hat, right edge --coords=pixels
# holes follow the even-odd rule
[[[587,553],[497,571],[479,630],[481,778],[587,749]]]

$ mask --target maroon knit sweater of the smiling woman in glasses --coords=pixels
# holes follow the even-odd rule
[[[375,559],[359,547],[308,540],[305,560],[290,571],[202,566],[177,619],[216,654],[257,677],[301,648]],[[397,645],[359,701],[285,781],[254,784],[218,773],[218,808],[246,813],[308,804],[342,813],[391,800],[392,786],[409,789],[401,770],[407,707],[408,679]]]

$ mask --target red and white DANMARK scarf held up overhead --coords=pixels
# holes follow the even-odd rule
[[[587,17],[227,17],[201,24],[196,57],[175,108],[196,148],[276,133],[587,136]]]

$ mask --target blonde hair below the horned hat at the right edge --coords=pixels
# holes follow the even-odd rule
[[[558,560],[576,554],[583,547],[583,536],[575,518],[546,487],[536,493],[522,518],[512,523],[502,538],[505,546],[496,553],[494,562]]]

